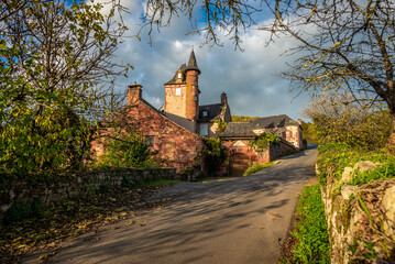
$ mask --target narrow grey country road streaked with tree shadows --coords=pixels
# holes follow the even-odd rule
[[[244,178],[182,183],[174,200],[66,242],[54,263],[277,263],[317,151],[306,150]],[[90,235],[90,237],[89,237]],[[87,239],[88,238],[88,239]]]

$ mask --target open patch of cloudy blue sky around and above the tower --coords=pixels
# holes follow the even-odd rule
[[[142,1],[123,3],[129,12],[123,20],[129,28],[123,43],[117,52],[117,59],[131,64],[134,69],[128,78],[119,78],[117,87],[125,90],[136,81],[143,86],[143,98],[156,108],[164,103],[164,84],[171,80],[183,63],[188,63],[191,48],[195,51],[199,76],[200,105],[220,102],[224,91],[233,116],[268,117],[287,114],[294,120],[301,118],[307,96],[289,91],[289,81],[277,77],[287,69],[287,62],[295,57],[284,55],[296,43],[290,38],[277,38],[266,45],[268,33],[252,29],[242,33],[242,48],[234,45],[219,32],[223,46],[202,45],[205,38],[198,34],[187,34],[190,23],[180,15],[172,20],[167,28],[154,32],[151,44],[146,31],[141,40],[133,36],[140,30]],[[256,18],[259,23],[265,18]]]

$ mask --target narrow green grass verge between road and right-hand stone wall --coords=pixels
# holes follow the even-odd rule
[[[290,243],[289,243],[290,241]],[[319,185],[304,187],[279,263],[330,263],[330,245]]]

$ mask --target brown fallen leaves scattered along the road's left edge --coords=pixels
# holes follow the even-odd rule
[[[73,199],[23,222],[0,224],[0,262],[15,263],[21,255],[37,250],[44,253],[40,260],[47,261],[59,250],[58,243],[62,240],[86,233],[99,226],[135,218],[135,210],[161,206],[161,202],[151,204],[146,200],[158,189],[158,186],[139,186]],[[129,224],[134,222],[132,219]],[[144,227],[146,222],[140,226]]]

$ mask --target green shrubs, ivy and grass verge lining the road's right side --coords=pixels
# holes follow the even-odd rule
[[[338,191],[333,194],[340,195],[340,188],[345,185],[339,182],[344,168],[354,168],[356,163],[367,161],[374,164],[372,169],[352,169],[351,180],[347,185],[375,183],[372,184],[374,187],[380,186],[380,180],[395,178],[394,147],[388,143],[393,121],[385,109],[358,103],[347,94],[317,98],[305,108],[305,116],[312,122],[303,123],[304,135],[306,132],[310,142],[319,144],[316,162],[319,185],[308,186],[303,190],[292,232],[283,246],[282,263],[329,263],[329,242],[320,187],[326,188],[327,184],[337,182]],[[369,217],[377,216],[377,208],[370,204],[371,198],[366,197],[358,196],[358,199],[352,199],[358,200]],[[380,219],[377,222],[377,230],[382,231]],[[364,229],[370,230],[370,227],[366,224]],[[362,262],[376,255],[372,250],[374,243],[369,240],[366,244],[370,248],[366,248],[366,258],[360,258]],[[355,249],[350,245],[349,250]],[[321,255],[321,258],[318,255]]]

